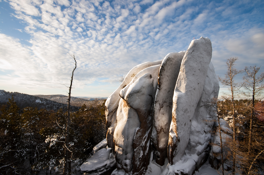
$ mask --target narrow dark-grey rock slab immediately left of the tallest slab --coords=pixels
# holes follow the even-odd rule
[[[157,149],[156,162],[161,166],[167,157],[168,133],[172,118],[173,89],[175,88],[184,54],[185,51],[167,54],[159,69],[151,140]]]

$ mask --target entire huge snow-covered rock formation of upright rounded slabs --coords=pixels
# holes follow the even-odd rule
[[[107,146],[98,144],[81,171],[193,174],[209,154],[217,164],[210,142],[217,140],[219,83],[211,55],[210,39],[201,37],[186,52],[131,69],[105,103]]]

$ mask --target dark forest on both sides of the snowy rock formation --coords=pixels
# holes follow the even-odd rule
[[[228,150],[224,170],[232,169],[235,152],[236,173],[245,174],[243,169],[249,169],[252,164],[252,172],[261,174],[264,170],[264,157],[261,155],[264,149],[264,101],[256,102],[249,153],[252,100],[234,100],[234,104],[236,145],[232,140],[223,145]],[[0,114],[0,174],[62,173],[66,125],[66,113],[62,109],[19,109],[11,98],[1,106]],[[218,116],[227,121],[230,128],[233,127],[231,100],[218,101]],[[91,156],[93,147],[106,137],[104,103],[91,107],[84,104],[78,111],[71,112],[70,119],[70,166],[72,174],[80,174],[78,167]]]

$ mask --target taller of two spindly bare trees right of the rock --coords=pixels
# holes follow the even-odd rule
[[[228,58],[226,62],[227,66],[227,73],[225,74],[225,78],[221,78],[218,76],[219,81],[224,85],[228,86],[228,90],[231,92],[231,95],[225,94],[225,99],[231,98],[232,101],[232,108],[233,108],[233,143],[235,145],[235,103],[234,97],[239,90],[239,84],[235,83],[234,77],[242,73],[242,70],[237,70],[235,66],[235,61],[238,60],[238,57]],[[233,152],[233,166],[232,166],[232,174],[235,175],[235,161],[236,161],[236,154]]]

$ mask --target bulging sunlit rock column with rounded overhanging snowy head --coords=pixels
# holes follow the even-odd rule
[[[151,109],[157,90],[159,67],[151,66],[140,71],[135,76],[136,81],[131,80],[120,91],[114,131],[115,156],[117,168],[126,173],[133,171],[142,174],[149,162]]]

